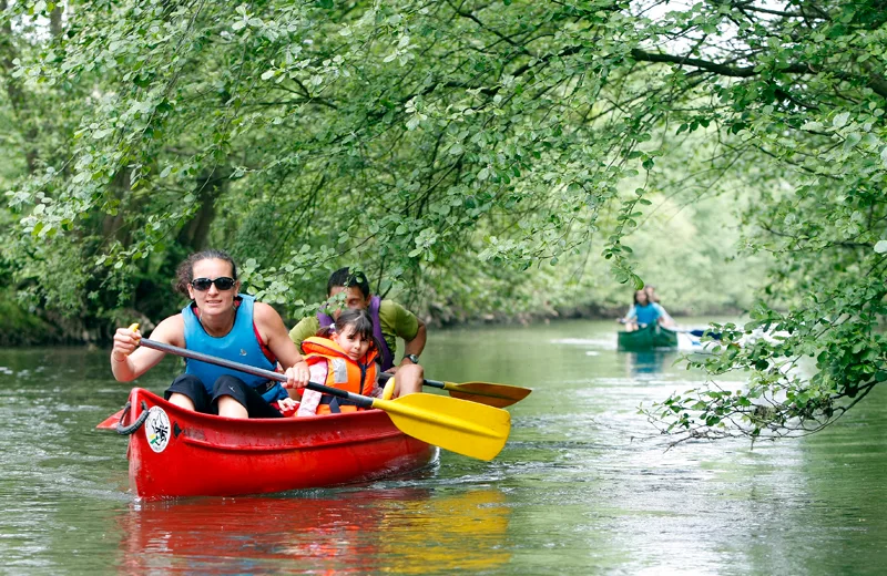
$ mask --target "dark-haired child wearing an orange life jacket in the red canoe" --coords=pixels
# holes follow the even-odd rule
[[[310,381],[348,392],[378,397],[379,343],[373,336],[373,317],[366,310],[343,310],[336,322],[302,343]],[[313,390],[302,394],[297,416],[351,412],[348,400]]]

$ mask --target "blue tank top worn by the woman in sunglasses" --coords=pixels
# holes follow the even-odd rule
[[[182,309],[182,318],[185,320],[185,348],[194,350],[195,352],[233,360],[255,368],[274,370],[277,368],[277,364],[268,360],[262,351],[253,327],[253,306],[255,298],[238,294],[236,299],[241,301],[241,305],[234,313],[234,326],[228,333],[221,338],[215,338],[206,333],[206,330],[203,329],[200,319],[194,315],[194,310],[188,302],[188,305]],[[224,374],[239,378],[252,388],[264,387],[264,384],[268,382],[267,378],[247,374],[246,372],[239,372],[230,368],[223,368],[193,359],[185,360],[185,373],[194,374],[200,378],[207,393],[213,392],[213,384],[215,384],[218,377]],[[273,402],[278,399],[282,390],[286,393],[278,382],[276,387],[265,392],[263,398],[268,402]]]

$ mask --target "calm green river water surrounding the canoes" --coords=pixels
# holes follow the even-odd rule
[[[676,358],[618,352],[613,322],[436,331],[429,378],[534,390],[492,462],[443,452],[370,485],[143,503],[126,440],[94,430],[129,392],[106,352],[0,350],[0,573],[881,573],[887,395],[804,439],[667,450],[638,407],[701,382]]]

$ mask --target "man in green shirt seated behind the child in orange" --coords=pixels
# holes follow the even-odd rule
[[[425,372],[419,364],[419,354],[425,349],[425,322],[399,304],[371,295],[369,281],[364,272],[353,274],[347,267],[333,272],[326,285],[327,297],[332,298],[340,292],[345,292],[347,308],[367,310],[373,318],[374,336],[380,344],[381,369],[397,373],[395,397],[421,391]],[[339,310],[336,310],[329,316],[322,310],[316,316],[303,318],[289,330],[289,338],[296,346],[302,346],[302,342],[316,335],[317,330],[330,326],[338,313]],[[404,358],[395,367],[398,337],[405,342]]]

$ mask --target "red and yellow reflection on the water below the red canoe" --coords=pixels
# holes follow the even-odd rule
[[[510,559],[503,546],[510,508],[498,490],[305,494],[133,504],[118,518],[120,567],[130,574],[420,574],[430,566],[486,570]]]

